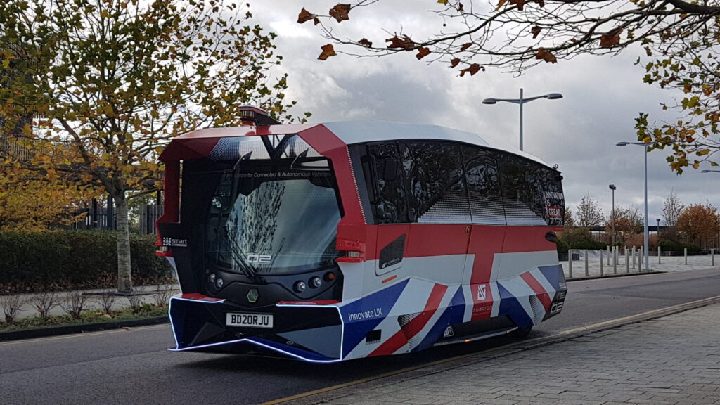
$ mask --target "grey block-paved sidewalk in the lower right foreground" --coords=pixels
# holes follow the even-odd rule
[[[297,404],[720,404],[720,303]],[[408,379],[409,378],[409,379]],[[348,392],[349,391],[349,392]],[[329,398],[329,399],[328,399]]]

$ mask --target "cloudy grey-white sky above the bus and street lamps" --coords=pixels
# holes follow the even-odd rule
[[[424,4],[427,3],[427,4]],[[343,22],[343,35],[381,42],[389,37],[380,28],[407,32],[431,29],[436,19],[423,12],[434,0],[386,1],[353,10]],[[583,195],[598,200],[603,213],[611,212],[615,184],[616,206],[643,207],[643,150],[641,146],[615,146],[636,141],[634,118],[638,112],[662,115],[660,103],[680,97],[642,83],[644,68],[634,66],[639,49],[614,57],[581,56],[557,64],[544,63],[523,76],[498,70],[458,77],[445,63],[417,61],[414,53],[382,58],[338,55],[318,61],[320,46],[328,40],[320,30],[297,24],[300,9],[327,13],[337,1],[251,1],[251,12],[266,30],[278,34],[283,55],[277,71],[289,74],[293,112],[312,112],[310,121],[393,120],[444,125],[479,134],[491,143],[518,146],[517,104],[482,104],[482,99],[518,98],[557,92],[564,98],[539,99],[525,104],[524,150],[549,164],[558,164],[564,176],[566,206],[575,212]],[[395,9],[394,9],[395,8]],[[378,30],[370,30],[376,27]],[[418,36],[419,37],[419,36]],[[336,50],[340,50],[336,48]],[[681,97],[680,97],[681,98]],[[675,113],[673,113],[675,114]],[[678,176],[665,162],[666,151],[648,154],[649,224],[662,218],[662,203],[674,190],[685,204],[720,205],[720,173],[701,174],[688,169]]]

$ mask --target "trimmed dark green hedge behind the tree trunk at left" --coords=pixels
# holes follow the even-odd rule
[[[155,236],[130,234],[136,284],[168,280],[172,269],[155,256]],[[0,287],[5,290],[109,287],[117,280],[114,231],[0,233]]]

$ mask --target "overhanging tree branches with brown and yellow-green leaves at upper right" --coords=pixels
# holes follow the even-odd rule
[[[716,57],[720,5],[685,0],[493,0],[492,6],[470,0],[438,0],[428,11],[438,27],[426,37],[399,27],[383,27],[382,37],[348,39],[340,22],[355,9],[379,0],[338,4],[328,14],[302,9],[298,22],[313,21],[324,45],[320,59],[336,55],[334,45],[358,55],[413,52],[418,60],[448,63],[459,76],[474,76],[487,68],[515,74],[544,63],[559,63],[577,55],[616,55],[631,45],[642,46],[644,82],[665,89],[682,89],[685,97],[670,105],[683,118],[654,125],[648,115],[636,120],[638,139],[654,148],[672,144],[672,169],[697,169],[720,150],[720,61]],[[423,6],[424,8],[425,6]],[[369,31],[372,21],[360,24]],[[396,17],[397,18],[397,17]],[[355,20],[356,17],[353,17]],[[348,25],[347,23],[345,25]],[[390,33],[392,32],[392,34]],[[663,108],[668,108],[667,104]],[[676,141],[672,143],[671,141]],[[691,156],[696,156],[692,159]],[[716,161],[710,161],[716,165]]]

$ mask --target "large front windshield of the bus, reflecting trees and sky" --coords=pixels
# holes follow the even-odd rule
[[[233,272],[279,275],[334,264],[340,209],[332,172],[242,162],[221,175],[206,255]]]

